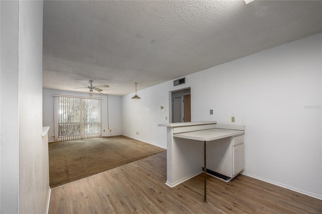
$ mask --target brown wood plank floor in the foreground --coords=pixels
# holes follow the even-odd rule
[[[49,213],[322,213],[322,200],[245,175],[170,188],[166,152],[51,190]]]

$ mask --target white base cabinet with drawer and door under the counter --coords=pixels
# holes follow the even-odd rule
[[[207,142],[207,169],[224,175],[226,181],[243,171],[244,135]]]

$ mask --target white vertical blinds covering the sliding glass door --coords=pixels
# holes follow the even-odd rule
[[[102,99],[53,96],[55,141],[101,137]]]

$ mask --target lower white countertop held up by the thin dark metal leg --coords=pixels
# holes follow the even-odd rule
[[[198,140],[198,141],[213,141],[221,138],[242,135],[244,133],[245,131],[231,130],[231,129],[207,129],[207,130],[200,130],[195,132],[185,132],[180,134],[174,134],[173,137]]]

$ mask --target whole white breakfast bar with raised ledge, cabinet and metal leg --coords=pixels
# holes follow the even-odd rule
[[[215,121],[158,126],[167,127],[168,186],[174,187],[204,172],[204,202],[207,202],[208,170],[222,174],[228,181],[244,169],[245,126],[223,125]],[[206,142],[210,142],[207,149]]]

